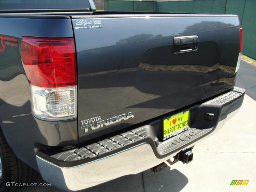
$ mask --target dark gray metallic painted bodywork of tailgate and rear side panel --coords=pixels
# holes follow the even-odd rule
[[[37,148],[76,145],[78,139],[87,141],[120,130],[209,98],[216,94],[215,90],[233,87],[234,70],[223,70],[220,65],[230,68],[237,62],[240,34],[236,16],[106,14],[73,17],[102,17],[104,26],[74,30],[73,34],[71,22],[76,19],[71,21],[66,16],[60,19],[54,15],[10,15],[8,18],[0,14],[0,36],[18,39],[18,47],[6,46],[5,52],[0,54],[0,126],[16,156],[35,169]],[[187,35],[198,35],[200,47],[194,54],[174,57],[173,37]],[[107,119],[130,111],[135,118],[99,129],[95,134],[79,129],[79,138],[77,129],[81,127],[77,127],[77,119],[47,122],[35,118],[31,113],[29,83],[19,55],[23,36],[74,36],[79,76],[78,122],[98,114]],[[220,65],[216,66],[218,62]],[[199,66],[199,71],[169,70],[169,66],[176,69],[185,64]],[[204,70],[207,73],[202,73]],[[225,84],[223,78],[229,83]],[[178,89],[178,93],[170,89]]]

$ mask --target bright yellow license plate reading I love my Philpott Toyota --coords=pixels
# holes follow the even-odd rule
[[[189,129],[189,110],[163,120],[163,140],[174,137]]]

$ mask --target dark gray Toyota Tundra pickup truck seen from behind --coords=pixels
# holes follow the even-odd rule
[[[0,191],[37,172],[76,191],[189,163],[243,102],[237,15],[6,0],[0,26]]]

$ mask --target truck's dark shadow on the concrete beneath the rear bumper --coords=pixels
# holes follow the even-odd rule
[[[85,178],[86,179],[86,178]],[[36,182],[45,183],[42,177],[39,175]],[[144,183],[144,184],[143,184]],[[166,167],[162,172],[155,174],[151,170],[146,170],[143,173],[136,175],[126,175],[118,179],[114,179],[110,182],[103,183],[101,185],[91,187],[89,189],[81,190],[80,192],[151,192],[151,191],[170,191],[178,192],[182,190],[188,183],[188,178],[177,169],[170,170],[170,167]],[[20,192],[60,192],[62,190],[51,187],[26,187]]]

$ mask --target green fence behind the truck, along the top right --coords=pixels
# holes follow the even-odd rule
[[[256,0],[105,0],[105,11],[236,14],[243,28],[243,54],[256,59]]]

